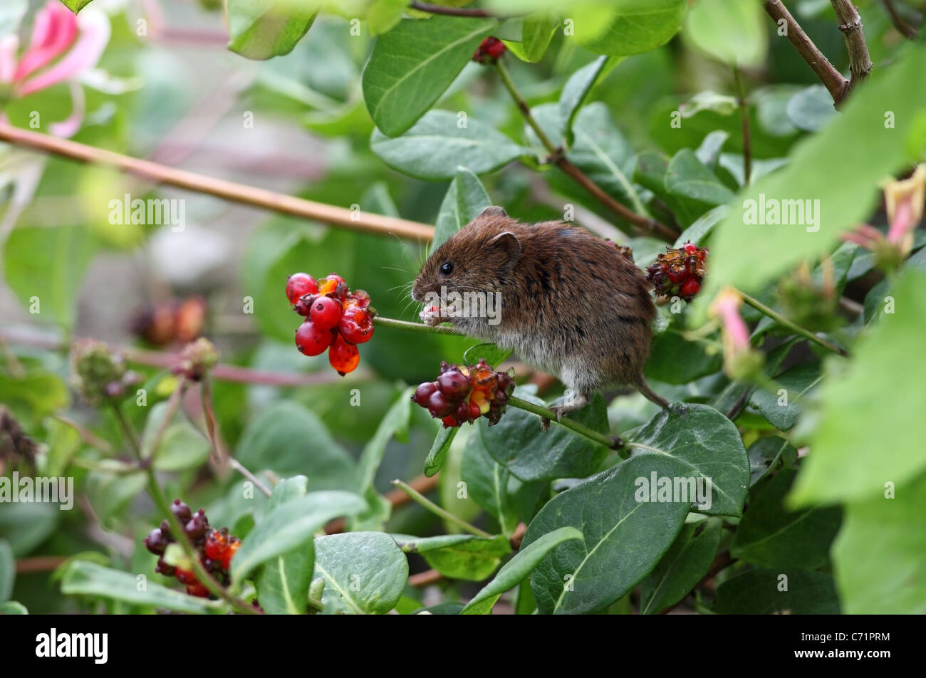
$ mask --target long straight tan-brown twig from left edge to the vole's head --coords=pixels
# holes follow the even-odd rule
[[[230,202],[263,207],[294,217],[317,220],[351,231],[372,232],[380,235],[391,233],[415,241],[429,241],[434,233],[432,226],[417,221],[384,217],[380,214],[355,211],[347,207],[326,205],[294,197],[293,195],[248,186],[244,183],[206,177],[202,174],[177,170],[149,160],[124,156],[120,153],[94,148],[94,146],[86,144],[78,144],[67,139],[58,139],[48,134],[21,130],[7,124],[0,124],[0,141],[56,156],[69,157],[80,162],[106,165],[152,182],[165,183],[206,195],[215,195]]]

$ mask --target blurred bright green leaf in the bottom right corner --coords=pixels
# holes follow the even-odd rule
[[[926,612],[926,476],[845,507],[832,546],[836,584],[846,614]]]

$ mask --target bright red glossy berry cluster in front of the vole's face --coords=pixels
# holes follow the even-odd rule
[[[295,331],[295,345],[307,356],[328,349],[328,361],[342,377],[357,369],[357,344],[373,336],[373,309],[363,290],[351,292],[344,278],[332,273],[316,281],[307,273],[294,273],[286,281],[286,298],[306,321]]]

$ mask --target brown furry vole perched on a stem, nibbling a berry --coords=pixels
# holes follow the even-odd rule
[[[454,270],[444,276],[447,261]],[[447,292],[500,293],[499,324],[452,322],[556,374],[579,396],[577,407],[615,384],[631,384],[668,405],[643,377],[656,315],[649,284],[614,245],[560,221],[526,224],[488,207],[428,258],[412,296],[423,301],[442,285]]]

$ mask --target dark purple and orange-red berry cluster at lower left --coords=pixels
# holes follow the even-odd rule
[[[215,577],[219,584],[228,584],[232,556],[241,545],[238,537],[230,535],[226,527],[221,530],[213,529],[202,508],[194,513],[180,499],[174,499],[173,504],[170,505],[170,512],[177,517],[178,521],[181,521],[183,532],[199,552],[199,561],[206,571]],[[169,544],[175,541],[173,535],[170,534],[168,521],[163,521],[160,527],[144,537],[144,547],[158,556],[155,571],[168,577],[177,577],[178,582],[186,584],[186,592],[190,596],[208,597],[209,590],[205,584],[196,579],[192,570],[174,567],[164,560],[164,551],[167,550]]]

